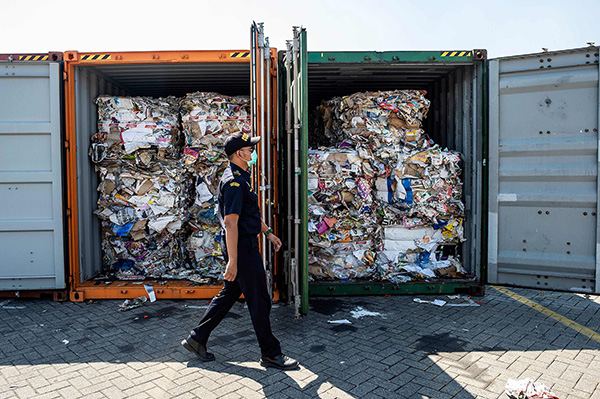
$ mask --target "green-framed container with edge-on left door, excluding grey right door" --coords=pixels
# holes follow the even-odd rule
[[[313,295],[479,293],[486,275],[486,51],[308,52],[307,31],[295,29],[279,52],[280,204],[286,217],[284,273],[297,316]],[[442,148],[464,156],[464,268],[475,280],[392,284],[310,281],[308,277],[308,118],[322,100],[361,91],[426,90],[431,108],[424,130]]]

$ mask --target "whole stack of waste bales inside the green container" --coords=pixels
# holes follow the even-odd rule
[[[315,112],[308,154],[311,279],[466,277],[456,251],[464,241],[461,155],[426,138],[425,95],[355,93],[324,101]]]

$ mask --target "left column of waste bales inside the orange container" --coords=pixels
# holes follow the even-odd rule
[[[100,96],[90,155],[99,175],[103,266],[119,279],[161,277],[185,263],[185,169],[177,100]]]

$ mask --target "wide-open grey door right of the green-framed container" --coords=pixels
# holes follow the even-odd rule
[[[489,63],[488,281],[600,292],[598,47]]]

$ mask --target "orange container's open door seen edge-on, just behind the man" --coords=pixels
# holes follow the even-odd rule
[[[264,24],[253,22],[250,26],[250,97],[252,116],[252,135],[260,136],[258,144],[258,161],[253,167],[253,185],[258,193],[258,203],[261,217],[268,226],[272,226],[275,235],[279,236],[276,222],[276,207],[274,195],[274,168],[276,158],[275,129],[276,118],[273,111],[273,102],[276,101],[274,87],[276,88],[276,62],[277,51],[269,47],[269,38],[265,37]],[[267,241],[264,234],[260,239],[261,253],[265,272],[267,274],[267,287],[273,298],[275,275],[275,252],[273,246]]]

